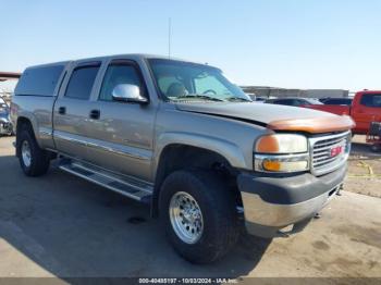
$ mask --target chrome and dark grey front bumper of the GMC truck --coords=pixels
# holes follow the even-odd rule
[[[309,173],[288,177],[237,177],[249,234],[273,236],[278,230],[304,223],[318,213],[342,187],[346,166],[316,177]]]

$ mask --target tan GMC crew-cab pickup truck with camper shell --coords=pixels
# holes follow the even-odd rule
[[[148,203],[194,263],[223,257],[242,233],[307,224],[342,187],[353,127],[255,103],[217,67],[145,54],[28,67],[11,116],[26,175],[56,160]]]

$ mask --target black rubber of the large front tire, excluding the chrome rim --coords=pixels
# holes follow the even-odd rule
[[[202,212],[204,231],[195,244],[184,243],[170,220],[170,201],[179,191],[194,197]],[[237,241],[239,227],[234,195],[213,172],[176,171],[170,174],[160,189],[159,211],[170,243],[192,263],[221,259]]]

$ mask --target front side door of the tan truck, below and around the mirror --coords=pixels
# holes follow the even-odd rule
[[[112,99],[120,84],[138,86],[149,99],[140,67],[130,60],[112,60],[91,100],[97,117],[87,121],[89,162],[108,170],[149,181],[151,177],[153,122],[157,108]]]

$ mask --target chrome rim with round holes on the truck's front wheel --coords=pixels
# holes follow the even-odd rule
[[[202,212],[189,194],[179,191],[170,202],[170,220],[177,237],[186,244],[195,244],[204,231]]]

